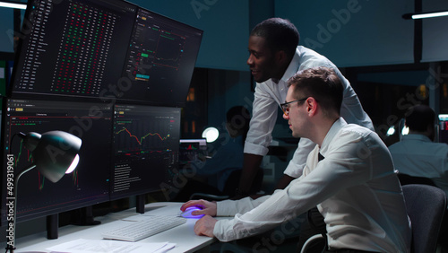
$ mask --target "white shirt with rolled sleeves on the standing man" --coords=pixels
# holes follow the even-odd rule
[[[309,48],[298,46],[296,53],[291,60],[285,74],[279,81],[274,83],[271,79],[264,83],[257,83],[254,93],[253,116],[250,122],[249,133],[247,134],[245,153],[265,155],[268,153],[268,146],[272,141],[272,129],[277,120],[277,113],[280,103],[284,103],[288,92],[288,80],[297,72],[316,66],[327,66],[336,72],[344,85],[344,100],[340,109],[340,116],[349,123],[366,126],[374,129],[372,120],[358,100],[358,95],[353,91],[349,81],[340,74],[339,69],[332,62],[314,52]],[[306,138],[301,138],[293,159],[289,162],[285,174],[298,178],[302,175],[302,170],[306,163],[308,153],[314,148],[313,142]]]

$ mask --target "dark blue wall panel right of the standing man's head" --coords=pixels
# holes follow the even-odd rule
[[[401,18],[413,1],[275,1],[275,13],[300,32],[300,44],[338,66],[413,61],[413,22]]]

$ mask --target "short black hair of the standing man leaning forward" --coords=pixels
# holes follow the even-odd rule
[[[296,26],[281,18],[271,18],[260,22],[250,35],[266,39],[268,48],[273,51],[284,50],[289,56],[294,55],[300,40]]]

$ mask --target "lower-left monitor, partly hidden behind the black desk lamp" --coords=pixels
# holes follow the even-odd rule
[[[102,103],[48,100],[7,100],[4,104],[4,161],[8,153],[16,161],[14,173],[30,166],[33,157],[14,136],[61,130],[82,139],[80,162],[72,174],[52,183],[39,170],[30,170],[19,180],[17,219],[29,220],[109,200],[112,108]],[[6,170],[3,170],[2,186]],[[5,191],[2,190],[2,221],[5,220]]]

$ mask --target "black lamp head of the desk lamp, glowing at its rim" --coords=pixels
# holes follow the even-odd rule
[[[76,168],[82,140],[63,131],[50,131],[39,135],[30,132],[21,135],[40,173],[56,183]]]

